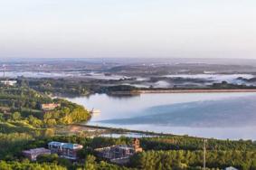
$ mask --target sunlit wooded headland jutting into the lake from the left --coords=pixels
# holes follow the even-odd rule
[[[41,104],[60,103],[61,107],[51,111],[41,110]],[[54,127],[87,121],[90,113],[82,106],[64,99],[51,99],[28,87],[0,87],[0,122],[9,125],[19,122],[35,128]],[[5,126],[1,126],[2,131]]]

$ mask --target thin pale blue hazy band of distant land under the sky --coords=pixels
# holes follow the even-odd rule
[[[256,66],[256,59],[230,59],[230,58],[0,58],[0,64],[8,62],[43,62],[43,61],[88,61],[88,62],[117,62],[120,64],[129,63],[204,63],[204,64],[224,64],[224,65],[248,65]]]

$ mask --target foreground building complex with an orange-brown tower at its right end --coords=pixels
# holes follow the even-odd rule
[[[126,164],[130,156],[142,152],[139,140],[134,138],[132,145],[108,146],[95,149],[97,155],[115,164]]]

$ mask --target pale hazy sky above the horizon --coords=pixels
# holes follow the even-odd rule
[[[0,57],[256,59],[256,1],[0,0]]]

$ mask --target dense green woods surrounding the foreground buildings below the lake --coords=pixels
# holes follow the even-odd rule
[[[49,141],[62,141],[79,143],[84,146],[79,156],[85,162],[72,164],[70,161],[62,159],[57,155],[41,156],[37,164],[56,164],[67,169],[202,169],[203,150],[202,139],[195,137],[144,137],[141,138],[141,145],[145,152],[139,153],[131,158],[130,165],[111,165],[94,157],[94,148],[119,144],[130,144],[132,138],[129,137],[79,137],[79,136],[55,136],[36,137],[26,134],[0,135],[0,159],[6,161],[20,160],[23,149],[47,146]],[[153,142],[154,143],[153,143]],[[187,144],[185,144],[187,141]],[[176,147],[171,147],[174,144]],[[191,146],[194,147],[192,148]],[[218,149],[212,147],[213,144],[219,146]],[[8,145],[8,146],[5,146]],[[233,149],[236,146],[238,149]],[[9,149],[7,149],[9,147]],[[247,149],[247,148],[248,149]],[[3,149],[5,148],[5,149]],[[191,149],[192,148],[192,149]],[[248,141],[229,141],[209,139],[206,154],[206,165],[209,169],[222,169],[227,166],[234,166],[239,169],[256,168],[256,150],[254,143]],[[5,162],[5,164],[9,164]],[[11,163],[13,164],[13,163]]]

